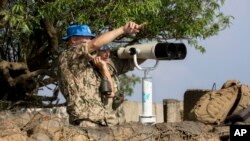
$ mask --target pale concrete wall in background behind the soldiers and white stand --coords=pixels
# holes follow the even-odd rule
[[[187,96],[188,97],[188,96]],[[142,115],[142,103],[135,101],[125,101],[123,104],[125,111],[125,118],[127,122],[138,122],[139,116]],[[189,105],[190,107],[190,105]],[[175,99],[164,99],[162,103],[153,103],[152,106],[153,115],[156,117],[156,123],[162,122],[181,122],[183,121],[183,115],[187,115],[184,112],[183,102]],[[57,108],[29,108],[22,109],[23,112],[35,113],[39,111],[45,111],[51,114],[57,114],[65,120],[68,119],[66,113],[66,107]],[[186,109],[186,112],[188,110]]]

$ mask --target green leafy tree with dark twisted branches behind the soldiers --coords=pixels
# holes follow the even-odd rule
[[[135,21],[144,24],[143,30],[120,36],[113,42],[114,47],[176,40],[203,53],[205,47],[198,41],[228,28],[233,18],[220,11],[224,1],[1,0],[0,99],[19,105],[57,102],[58,87],[50,97],[39,96],[38,90],[49,84],[57,86],[58,54],[65,49],[61,38],[71,22],[88,24],[99,35]],[[122,77],[123,88],[131,94],[139,79]]]

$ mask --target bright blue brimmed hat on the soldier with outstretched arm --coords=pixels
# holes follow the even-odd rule
[[[95,38],[88,25],[70,25],[67,28],[67,35],[62,38],[63,41],[67,41],[72,36],[88,36]]]

